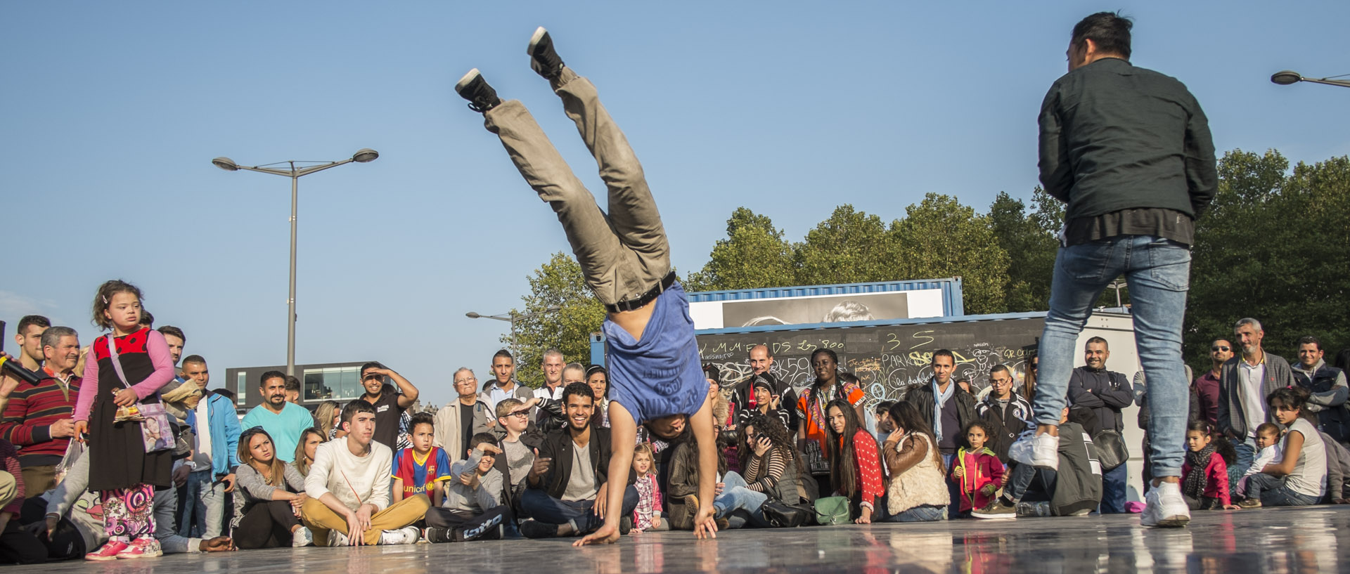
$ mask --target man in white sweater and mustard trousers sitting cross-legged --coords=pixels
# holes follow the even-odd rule
[[[389,505],[394,454],[373,442],[375,408],[364,400],[347,403],[342,411],[347,435],[319,445],[315,464],[305,477],[309,500],[300,509],[301,520],[315,535],[316,546],[412,544],[417,528],[431,508],[427,495],[410,496]],[[340,536],[329,540],[329,532]]]

